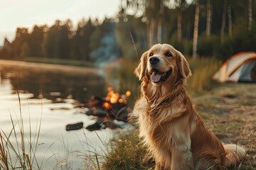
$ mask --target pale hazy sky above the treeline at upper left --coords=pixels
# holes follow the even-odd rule
[[[52,26],[56,19],[70,18],[77,26],[82,18],[102,20],[115,16],[120,0],[0,0],[0,46],[14,40],[17,27]]]

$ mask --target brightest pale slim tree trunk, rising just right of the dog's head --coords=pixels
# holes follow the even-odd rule
[[[193,58],[196,58],[197,44],[198,44],[199,7],[200,7],[199,3],[196,2],[195,22],[194,22],[194,29],[193,29],[193,52],[192,52]]]

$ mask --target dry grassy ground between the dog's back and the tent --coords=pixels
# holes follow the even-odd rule
[[[222,142],[247,150],[235,169],[256,169],[256,84],[220,84],[191,98],[206,126]]]

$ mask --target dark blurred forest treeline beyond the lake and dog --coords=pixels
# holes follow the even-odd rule
[[[256,0],[122,0],[117,16],[102,22],[81,19],[73,26],[68,19],[17,28],[14,41],[4,40],[0,59],[138,60],[161,42],[193,57],[225,60],[237,52],[256,51],[255,7]]]

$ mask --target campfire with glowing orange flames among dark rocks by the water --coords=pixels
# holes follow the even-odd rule
[[[89,101],[81,106],[85,109],[86,115],[97,116],[97,122],[87,126],[87,130],[99,130],[102,128],[119,128],[119,125],[114,120],[128,122],[128,113],[131,109],[127,106],[127,100],[131,96],[131,91],[126,91],[125,94],[115,92],[112,87],[107,88],[107,96],[92,96]],[[78,123],[76,123],[78,124]],[[73,128],[81,128],[76,124],[66,126],[66,130],[75,130]]]

